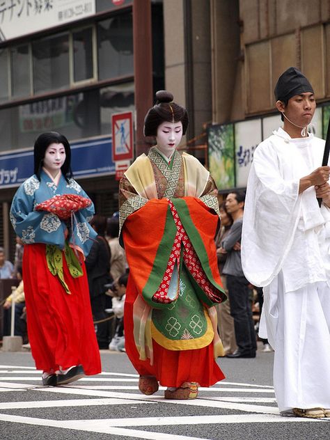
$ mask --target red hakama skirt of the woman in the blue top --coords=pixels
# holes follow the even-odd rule
[[[36,368],[50,372],[81,364],[86,375],[101,372],[86,269],[73,278],[63,253],[71,294],[49,272],[45,244],[24,246],[23,274],[29,342]]]

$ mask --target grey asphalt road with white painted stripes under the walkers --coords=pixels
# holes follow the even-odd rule
[[[196,400],[139,393],[125,353],[102,351],[102,374],[44,387],[30,352],[0,352],[1,440],[329,439],[330,419],[283,417],[272,388],[273,353],[219,359],[226,380]]]

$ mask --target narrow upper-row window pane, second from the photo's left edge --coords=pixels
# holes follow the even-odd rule
[[[31,93],[29,45],[12,47],[10,55],[11,94],[13,97],[29,96]]]

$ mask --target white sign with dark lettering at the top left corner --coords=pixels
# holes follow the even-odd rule
[[[95,0],[0,0],[0,41],[95,14]]]

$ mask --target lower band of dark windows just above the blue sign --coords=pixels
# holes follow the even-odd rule
[[[112,113],[134,110],[134,83],[95,88],[0,110],[0,151],[31,148],[41,132],[69,140],[111,134]]]

